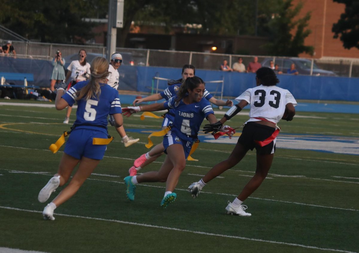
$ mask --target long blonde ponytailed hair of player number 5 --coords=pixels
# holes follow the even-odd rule
[[[110,72],[108,72],[108,66],[108,61],[104,57],[97,56],[93,59],[90,68],[90,81],[86,86],[80,89],[80,91],[76,92],[76,100],[82,98],[84,98],[84,100],[99,98],[101,94],[100,80],[107,78],[110,74]]]

